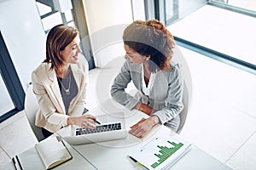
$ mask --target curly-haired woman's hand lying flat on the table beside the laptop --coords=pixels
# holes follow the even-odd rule
[[[147,119],[143,119],[131,126],[129,133],[137,136],[138,138],[143,138],[159,121],[158,116],[150,116]]]

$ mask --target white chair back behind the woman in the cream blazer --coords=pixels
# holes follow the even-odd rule
[[[29,87],[26,90],[26,96],[25,96],[25,112],[26,112],[26,118],[30,124],[30,127],[32,127],[32,131],[37,137],[38,141],[41,141],[44,139],[44,135],[42,133],[41,127],[37,127],[35,125],[35,119],[36,119],[36,113],[38,111],[38,100],[36,99],[35,94],[33,94],[32,91],[32,84],[29,85]]]

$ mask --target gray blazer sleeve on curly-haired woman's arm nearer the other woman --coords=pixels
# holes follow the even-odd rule
[[[139,102],[138,99],[125,92],[125,88],[127,88],[128,83],[131,82],[130,65],[130,62],[126,60],[121,71],[115,77],[111,87],[111,95],[113,99],[118,101],[120,104],[125,105],[129,110],[133,109]]]

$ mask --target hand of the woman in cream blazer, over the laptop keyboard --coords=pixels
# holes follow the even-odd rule
[[[93,119],[96,120],[96,116],[88,114],[83,116],[70,116],[67,118],[67,124],[94,129],[96,126],[96,122]]]

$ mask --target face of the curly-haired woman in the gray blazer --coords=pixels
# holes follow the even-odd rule
[[[138,54],[135,50],[124,44],[125,47],[125,59],[129,60],[132,65],[141,65],[145,63],[148,57]]]

